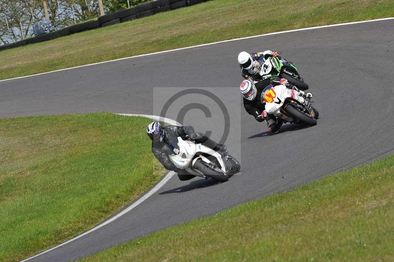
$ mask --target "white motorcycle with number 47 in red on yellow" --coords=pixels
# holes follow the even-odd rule
[[[317,124],[319,112],[305,98],[301,104],[292,98],[292,90],[284,85],[268,85],[262,93],[262,103],[265,102],[265,112],[283,120],[284,123],[304,123],[310,126]]]

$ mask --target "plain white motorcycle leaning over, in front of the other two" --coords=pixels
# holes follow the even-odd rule
[[[195,176],[226,182],[229,176],[239,172],[241,168],[239,162],[227,152],[217,152],[181,137],[174,139],[168,146],[173,152],[169,155],[171,162]]]

